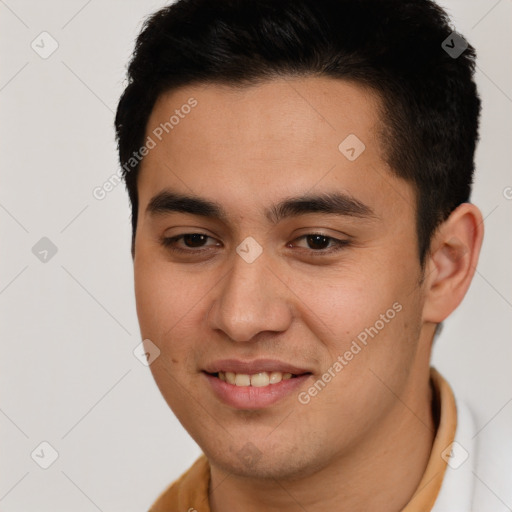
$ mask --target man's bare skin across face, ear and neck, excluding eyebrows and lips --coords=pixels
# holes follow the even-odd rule
[[[212,512],[401,510],[430,456],[432,338],[471,282],[479,210],[452,213],[423,272],[415,193],[386,163],[374,93],[326,77],[187,86],[158,99],[146,135],[190,97],[197,106],[142,162],[135,291],[142,336],[161,351],[155,381],[210,461]],[[366,146],[355,161],[338,150],[349,134]],[[226,219],[148,212],[163,190],[215,201]],[[274,224],[263,214],[284,198],[329,192],[374,215]],[[177,241],[187,255],[162,244],[187,233],[211,238]],[[332,243],[319,250],[311,233],[350,244],[325,254]],[[263,249],[253,263],[235,250],[248,236]],[[234,409],[201,373],[216,359],[276,358],[313,372],[307,390],[394,303],[401,311],[307,405],[292,393]],[[258,454],[249,464],[239,454],[248,440]]]

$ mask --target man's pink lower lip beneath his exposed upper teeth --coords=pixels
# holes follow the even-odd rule
[[[235,386],[218,377],[203,372],[213,392],[227,405],[237,409],[255,410],[275,404],[282,398],[296,392],[311,377],[311,374],[299,375],[268,386]]]

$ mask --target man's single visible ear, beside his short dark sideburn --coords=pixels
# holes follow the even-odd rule
[[[483,222],[475,205],[463,203],[436,230],[425,268],[425,322],[442,322],[462,302],[478,263]]]

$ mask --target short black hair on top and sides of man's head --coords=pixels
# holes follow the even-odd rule
[[[144,144],[164,91],[288,76],[355,81],[382,99],[385,159],[415,188],[423,265],[436,228],[469,200],[478,140],[475,51],[449,53],[467,44],[452,32],[430,0],[179,0],[138,36],[115,119],[121,165]],[[123,168],[132,241],[138,169]]]

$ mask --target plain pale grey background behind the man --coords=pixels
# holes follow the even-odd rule
[[[473,202],[486,234],[434,365],[478,428],[512,428],[512,2],[441,4],[479,55]],[[0,0],[2,511],[147,510],[200,453],[133,354],[124,185],[92,194],[117,169],[113,118],[134,38],[163,5]],[[31,44],[58,48],[42,58]],[[43,441],[58,453],[48,469]]]

